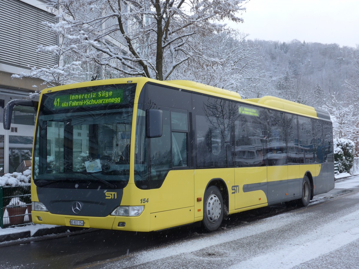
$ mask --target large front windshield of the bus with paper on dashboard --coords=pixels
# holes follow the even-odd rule
[[[34,144],[33,179],[38,187],[125,187],[130,174],[133,114],[132,98],[126,100],[126,96],[134,95],[135,86],[126,85],[121,95],[116,93],[118,85],[115,86],[115,90],[103,85],[105,90],[73,89],[43,98]],[[85,98],[92,96],[89,92],[102,91],[111,93],[108,96],[120,96],[123,103],[108,104],[111,101],[103,101],[106,98]],[[71,105],[72,96],[80,96],[76,102],[102,100],[106,105]],[[59,108],[64,102],[70,108],[65,105]]]

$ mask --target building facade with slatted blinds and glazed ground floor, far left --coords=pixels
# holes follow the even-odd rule
[[[55,45],[57,38],[42,22],[56,22],[45,0],[0,0],[0,173],[12,173],[23,160],[31,160],[35,114],[32,108],[15,107],[11,129],[3,128],[4,106],[12,99],[28,99],[43,89],[42,80],[12,79],[32,67],[53,66],[52,55],[36,52],[39,45]]]

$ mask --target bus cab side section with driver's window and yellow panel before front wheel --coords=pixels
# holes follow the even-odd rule
[[[162,136],[150,138],[151,230],[194,221],[194,170],[189,169],[188,112],[163,109]]]

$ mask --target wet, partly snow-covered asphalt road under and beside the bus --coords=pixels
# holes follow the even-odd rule
[[[281,204],[234,214],[212,233],[194,226],[87,230],[7,242],[0,268],[358,268],[358,192],[314,197],[307,208]]]

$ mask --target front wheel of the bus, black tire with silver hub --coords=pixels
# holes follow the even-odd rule
[[[204,194],[203,226],[207,231],[215,231],[222,223],[224,204],[222,194],[216,186],[209,187]]]

